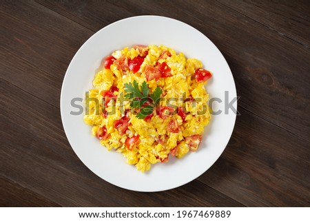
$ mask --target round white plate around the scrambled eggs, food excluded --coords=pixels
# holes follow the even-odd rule
[[[122,154],[107,151],[101,146],[99,140],[91,135],[91,127],[83,122],[84,113],[79,116],[70,114],[77,110],[71,105],[72,98],[84,98],[85,92],[92,89],[95,70],[101,60],[115,50],[136,44],[166,45],[176,52],[183,52],[187,58],[199,59],[214,74],[206,85],[210,98],[216,97],[223,101],[213,106],[215,110],[223,112],[212,116],[211,122],[205,127],[198,151],[180,160],[170,158],[167,163],[152,165],[147,173],[127,165]],[[125,189],[163,191],[194,180],[207,171],[223,153],[236,120],[234,112],[224,114],[225,91],[229,92],[229,100],[236,97],[234,78],[223,55],[205,35],[186,23],[167,17],[130,17],[96,32],[76,52],[63,79],[61,119],[76,155],[96,175]],[[76,104],[84,106],[82,102]],[[236,106],[237,103],[234,103]]]

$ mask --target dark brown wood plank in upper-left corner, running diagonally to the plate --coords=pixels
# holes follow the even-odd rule
[[[3,78],[25,90],[33,90],[32,82],[38,81],[40,90],[44,90],[37,93],[39,98],[54,96],[59,100],[63,76],[72,57],[94,32],[33,1],[3,1],[0,16],[1,21],[6,21],[1,23],[1,46],[6,50],[1,50],[1,54],[8,57],[8,62],[1,65],[16,70],[23,63],[30,64],[20,72],[7,69]],[[35,75],[34,70],[41,73]],[[22,77],[27,76],[28,81],[23,81]],[[53,105],[59,107],[59,102],[54,100]]]

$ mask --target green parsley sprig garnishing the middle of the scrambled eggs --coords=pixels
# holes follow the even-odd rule
[[[143,81],[141,90],[136,80],[133,83],[125,83],[125,98],[130,99],[130,107],[139,109],[136,118],[143,119],[147,115],[152,114],[156,105],[158,105],[161,98],[161,87],[156,87],[153,94],[149,94],[149,87]]]

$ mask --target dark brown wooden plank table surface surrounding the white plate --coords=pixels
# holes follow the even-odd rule
[[[0,10],[1,206],[310,206],[309,1],[1,1]],[[203,32],[241,96],[218,161],[187,185],[156,193],[115,187],[87,169],[59,110],[63,76],[81,45],[142,14]]]

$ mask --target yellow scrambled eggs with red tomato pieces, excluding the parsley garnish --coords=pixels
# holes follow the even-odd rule
[[[143,62],[131,63],[137,57]],[[166,66],[161,76],[156,71],[157,76],[152,78],[150,67],[163,63]],[[167,162],[169,157],[182,158],[189,151],[196,151],[210,120],[204,87],[207,81],[198,81],[196,77],[197,70],[203,68],[200,61],[186,59],[183,53],[176,54],[163,45],[136,45],[113,52],[110,61],[105,59],[103,64],[105,67],[96,73],[94,89],[85,100],[84,116],[101,145],[108,150],[116,149],[128,164],[142,172],[152,164]],[[149,92],[158,86],[163,91],[160,106],[147,120],[136,118],[137,110],[132,110],[130,101],[123,97],[124,84],[133,81],[139,85],[146,81]],[[161,107],[167,107],[163,108],[166,112],[158,111]],[[171,108],[174,113],[167,113]]]

